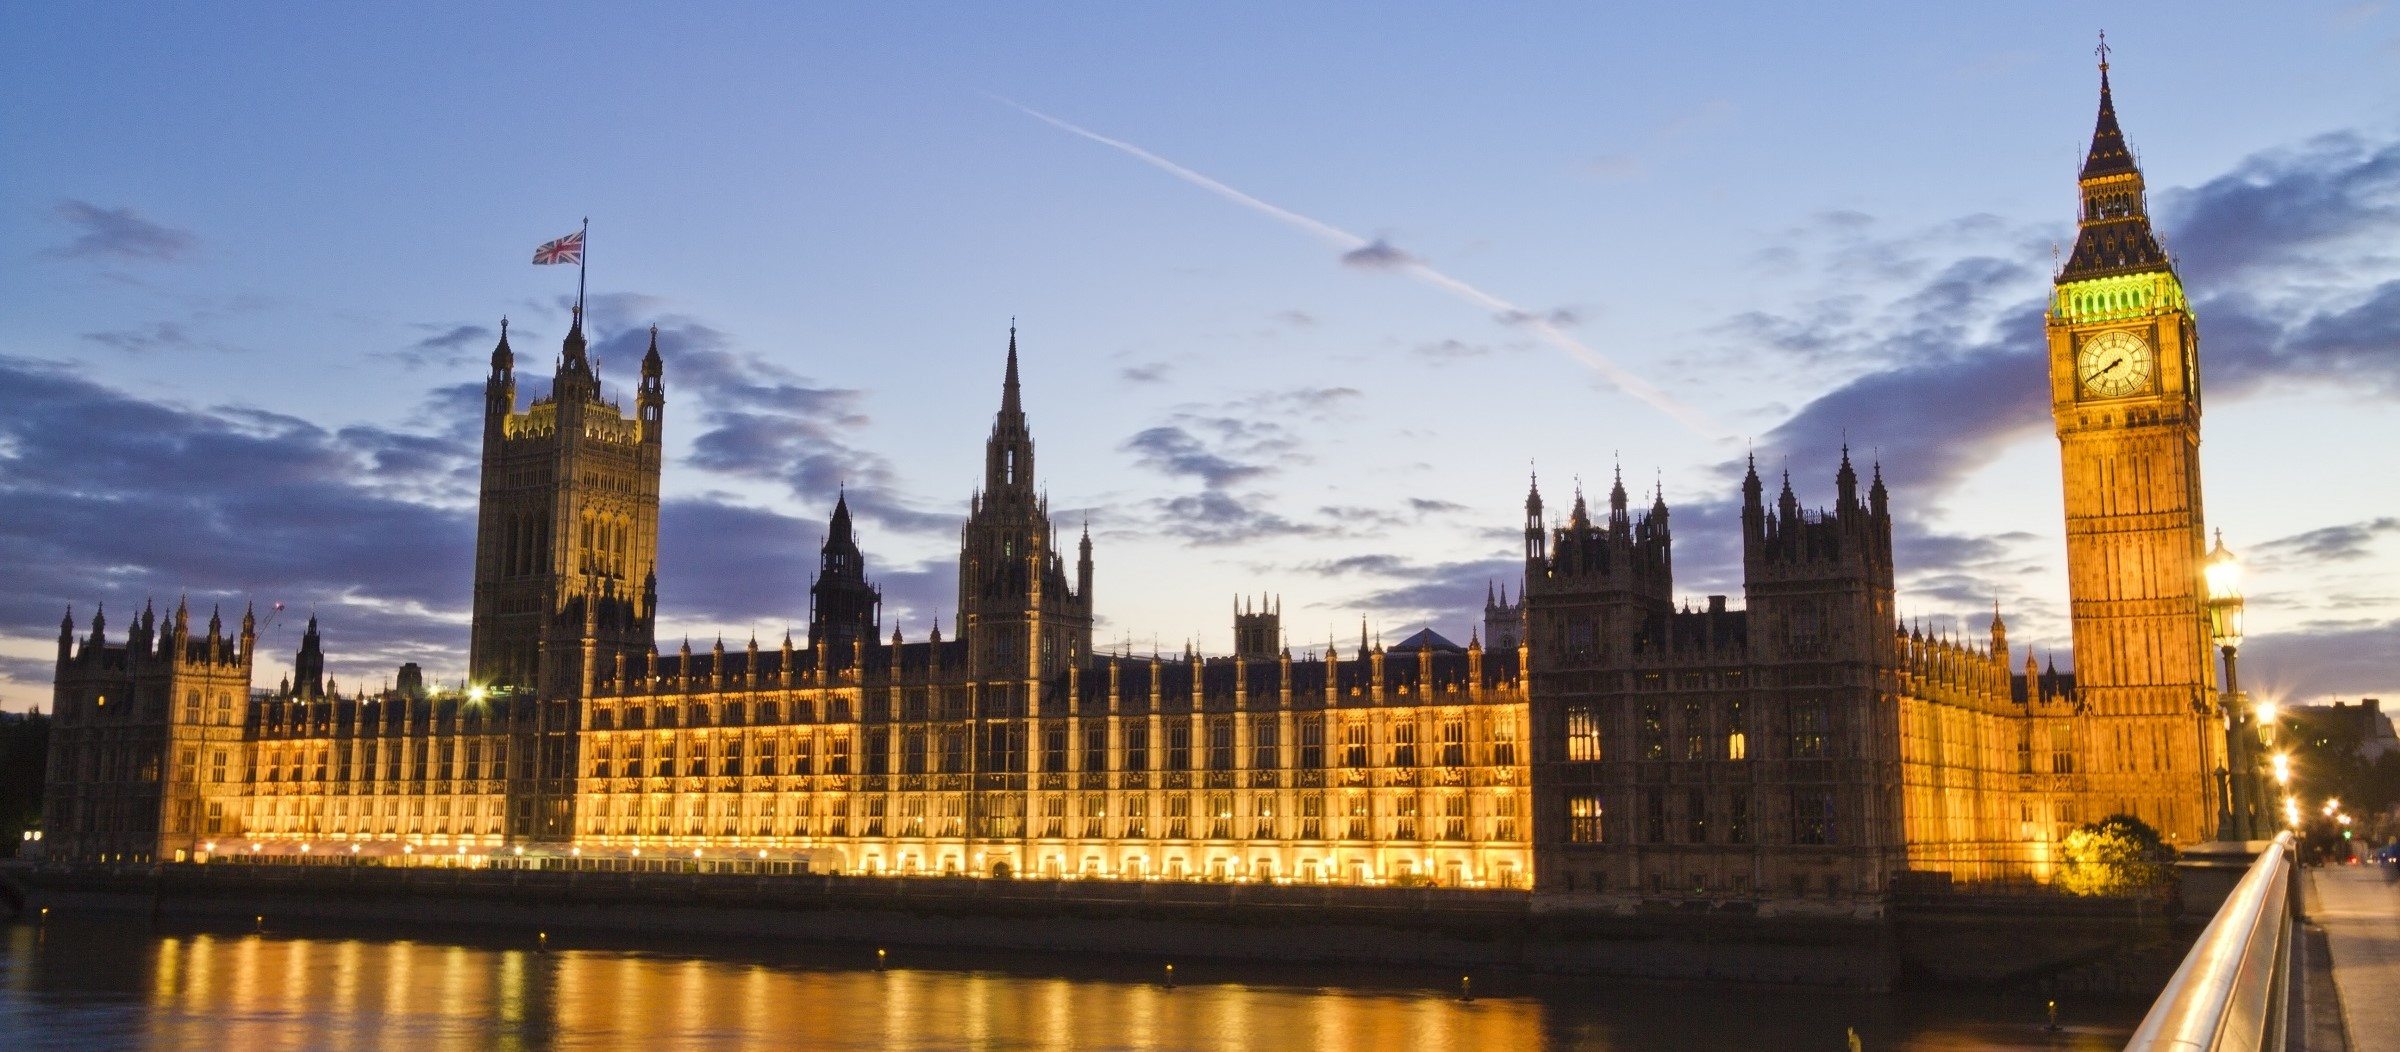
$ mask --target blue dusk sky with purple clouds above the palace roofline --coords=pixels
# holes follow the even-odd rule
[[[1740,596],[1745,456],[1819,507],[1848,442],[1901,612],[2071,665],[2102,29],[2244,687],[2400,697],[2400,7],[1620,7],[7,5],[0,706],[180,596],[257,603],[262,687],[310,612],[343,685],[461,677],[485,360],[542,387],[583,216],[605,384],[667,363],[667,648],[804,629],[840,488],[886,629],[950,624],[1013,322],[1104,648],[1229,651],[1236,593],[1464,641],[1529,471],[1663,490]]]

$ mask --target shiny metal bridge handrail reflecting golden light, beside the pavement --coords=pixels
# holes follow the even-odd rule
[[[2282,1047],[2292,985],[2292,833],[2278,833],[2201,930],[2124,1047]]]

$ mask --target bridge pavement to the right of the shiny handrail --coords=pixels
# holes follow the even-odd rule
[[[2309,869],[2309,920],[2326,930],[2352,1052],[2400,1052],[2400,884],[2376,865]]]

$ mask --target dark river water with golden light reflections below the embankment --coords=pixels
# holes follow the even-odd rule
[[[2143,1006],[487,932],[0,927],[5,1050],[2114,1050]]]

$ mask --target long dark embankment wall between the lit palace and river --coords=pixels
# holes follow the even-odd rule
[[[1596,913],[1524,891],[737,877],[398,867],[14,867],[29,908],[250,927],[466,925],[514,932],[794,939],[1027,954],[1519,968],[1536,973],[2038,987],[2141,997],[2191,932],[2155,910],[1951,901],[1886,917]],[[2162,963],[2160,963],[2162,961]],[[2153,975],[2155,973],[2155,975]]]

